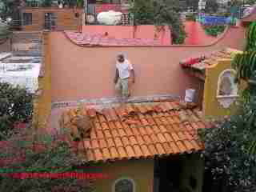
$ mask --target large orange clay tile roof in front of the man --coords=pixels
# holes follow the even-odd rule
[[[93,122],[90,138],[78,142],[78,154],[86,162],[198,152],[204,146],[197,131],[209,126],[194,104],[174,101],[83,108],[82,114]],[[78,110],[67,110],[60,125],[79,137],[74,126],[77,115]]]

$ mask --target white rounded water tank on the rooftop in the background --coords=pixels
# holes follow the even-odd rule
[[[122,20],[122,13],[115,12],[114,10],[110,10],[107,12],[101,12],[97,16],[97,20],[99,23],[109,26],[118,25]]]

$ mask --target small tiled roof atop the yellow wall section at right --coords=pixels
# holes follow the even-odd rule
[[[205,70],[207,66],[212,66],[223,58],[233,58],[232,53],[234,50],[223,49],[211,52],[210,54],[204,54],[200,57],[186,58],[180,62],[182,67],[193,68],[196,70]]]

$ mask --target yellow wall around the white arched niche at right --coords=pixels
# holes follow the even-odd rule
[[[206,69],[206,82],[204,90],[204,114],[206,118],[218,118],[224,115],[234,114],[238,110],[237,102],[224,108],[217,98],[218,78],[224,70],[232,70],[231,60],[222,59],[217,65]],[[241,90],[238,87],[238,94]]]

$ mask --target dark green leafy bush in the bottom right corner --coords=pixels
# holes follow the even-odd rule
[[[254,141],[255,129],[246,126],[246,114],[235,115],[202,132],[206,170],[214,183],[224,183],[228,191],[256,189],[256,156],[247,150]]]

